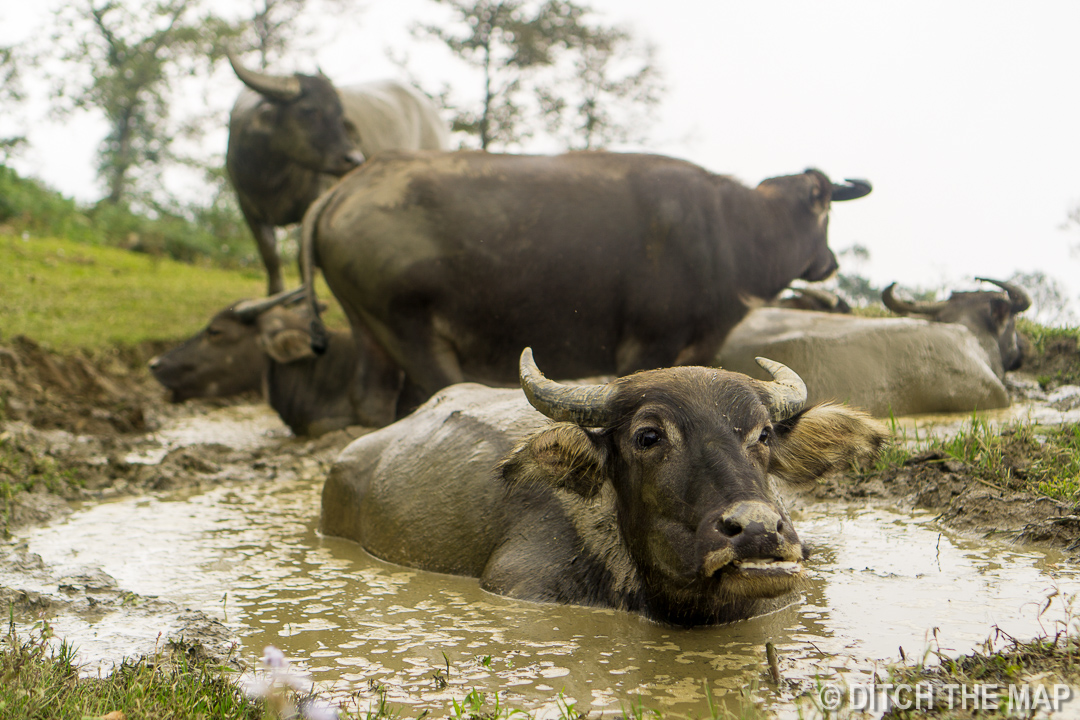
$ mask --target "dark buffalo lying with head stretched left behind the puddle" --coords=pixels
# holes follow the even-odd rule
[[[348,332],[332,331],[326,352],[315,355],[306,308],[285,307],[302,297],[301,288],[235,302],[151,359],[150,371],[175,403],[261,391],[296,435],[355,424],[347,389],[356,372],[356,347]]]

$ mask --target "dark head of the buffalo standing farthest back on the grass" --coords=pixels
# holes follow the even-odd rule
[[[349,137],[341,98],[329,79],[271,76],[243,65],[229,53],[237,77],[262,96],[248,132],[264,135],[269,149],[319,173],[345,175],[364,162]]]

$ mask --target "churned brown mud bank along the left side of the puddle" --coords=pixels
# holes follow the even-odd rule
[[[162,350],[148,344],[98,355],[62,354],[27,338],[0,339],[0,501],[5,501],[0,535],[63,517],[80,503],[322,476],[354,436],[340,431],[308,440],[291,437],[283,427],[280,437],[257,447],[198,443],[162,450],[154,432],[164,423],[258,400],[167,403],[147,370]],[[145,460],[148,453],[153,462]],[[139,456],[143,460],[133,460]],[[32,487],[12,491],[18,485]],[[221,623],[137,597],[99,569],[59,576],[25,545],[9,540],[0,543],[0,607],[10,607],[16,619],[32,622],[63,613],[89,620],[123,608],[167,619],[176,628],[167,641],[184,652],[238,662],[235,638]]]

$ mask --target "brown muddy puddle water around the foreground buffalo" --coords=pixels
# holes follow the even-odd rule
[[[240,407],[159,436],[163,447],[258,446],[286,434],[269,412]],[[160,460],[154,450],[140,458]],[[248,665],[273,644],[325,692],[359,695],[364,708],[382,689],[408,717],[451,715],[451,698],[472,689],[504,691],[504,706],[540,716],[557,717],[568,702],[594,714],[643,703],[693,717],[707,715],[706,693],[734,708],[747,685],[794,715],[795,696],[818,678],[863,681],[901,647],[909,658],[955,655],[995,627],[1022,639],[1053,633],[1068,616],[1064,596],[1080,590],[1077,566],[1052,552],[943,530],[926,513],[799,501],[793,519],[814,547],[806,592],[767,616],[676,629],[518,602],[471,579],[381,562],[318,532],[321,486],[318,475],[264,478],[87,505],[17,534],[50,569],[21,582],[56,594],[56,579],[104,575],[134,594],[120,607],[53,614],[56,636],[78,646],[91,674],[152,651],[177,628],[175,611],[156,608],[178,607],[220,621]],[[781,656],[779,688],[766,679],[768,640]]]

